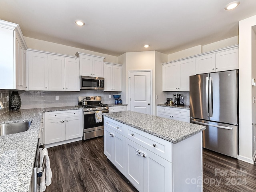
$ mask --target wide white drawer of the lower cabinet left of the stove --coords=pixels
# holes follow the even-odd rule
[[[45,119],[55,119],[55,118],[66,118],[66,117],[74,117],[74,116],[82,116],[82,110],[66,110],[66,111],[53,111],[53,112],[45,112]]]

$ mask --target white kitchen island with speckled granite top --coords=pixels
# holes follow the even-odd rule
[[[104,114],[104,154],[139,191],[202,191],[205,126],[132,111]]]

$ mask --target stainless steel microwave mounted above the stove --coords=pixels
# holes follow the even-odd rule
[[[80,89],[104,90],[104,78],[80,76]]]

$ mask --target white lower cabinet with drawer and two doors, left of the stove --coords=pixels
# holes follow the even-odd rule
[[[44,144],[57,146],[82,140],[82,110],[45,112]]]

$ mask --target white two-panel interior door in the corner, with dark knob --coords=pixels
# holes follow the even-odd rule
[[[151,114],[151,95],[150,72],[130,72],[130,110]]]

